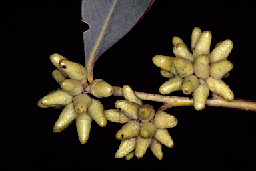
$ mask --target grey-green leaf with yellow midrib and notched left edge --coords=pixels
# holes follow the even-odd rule
[[[93,81],[93,67],[97,59],[142,19],[153,2],[154,0],[83,0],[82,19],[90,27],[83,33],[89,83]]]

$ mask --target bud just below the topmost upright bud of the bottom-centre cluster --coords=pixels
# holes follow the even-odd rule
[[[128,118],[137,120],[139,118],[138,109],[139,104],[134,102],[127,102],[127,100],[117,100],[115,108],[121,110]]]

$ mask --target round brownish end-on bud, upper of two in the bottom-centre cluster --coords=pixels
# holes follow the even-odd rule
[[[139,106],[138,115],[142,122],[149,122],[155,116],[155,109],[149,104],[144,104]]]

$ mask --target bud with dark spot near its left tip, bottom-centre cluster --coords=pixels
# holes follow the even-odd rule
[[[136,137],[138,135],[139,123],[136,121],[130,121],[123,125],[119,131],[117,131],[117,134],[115,134],[115,138],[117,138],[117,140],[125,140]]]

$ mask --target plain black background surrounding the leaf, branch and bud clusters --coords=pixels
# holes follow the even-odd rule
[[[175,146],[163,146],[163,160],[151,150],[143,158],[115,159],[121,124],[94,121],[89,140],[81,145],[75,124],[59,134],[52,128],[61,110],[38,108],[37,101],[59,85],[51,77],[49,55],[59,53],[85,64],[81,1],[19,1],[1,5],[1,162],[8,170],[256,170],[256,115],[228,108],[192,106],[166,110],[179,124],[170,128]],[[147,15],[107,50],[94,68],[94,78],[115,86],[159,94],[167,79],[153,65],[154,55],[173,56],[171,39],[191,47],[194,27],[213,35],[211,50],[225,39],[234,43],[225,79],[235,98],[256,101],[255,9],[239,1],[155,1]],[[181,92],[171,95],[185,96]],[[121,97],[100,99],[105,110]],[[162,104],[147,102],[155,109]]]

